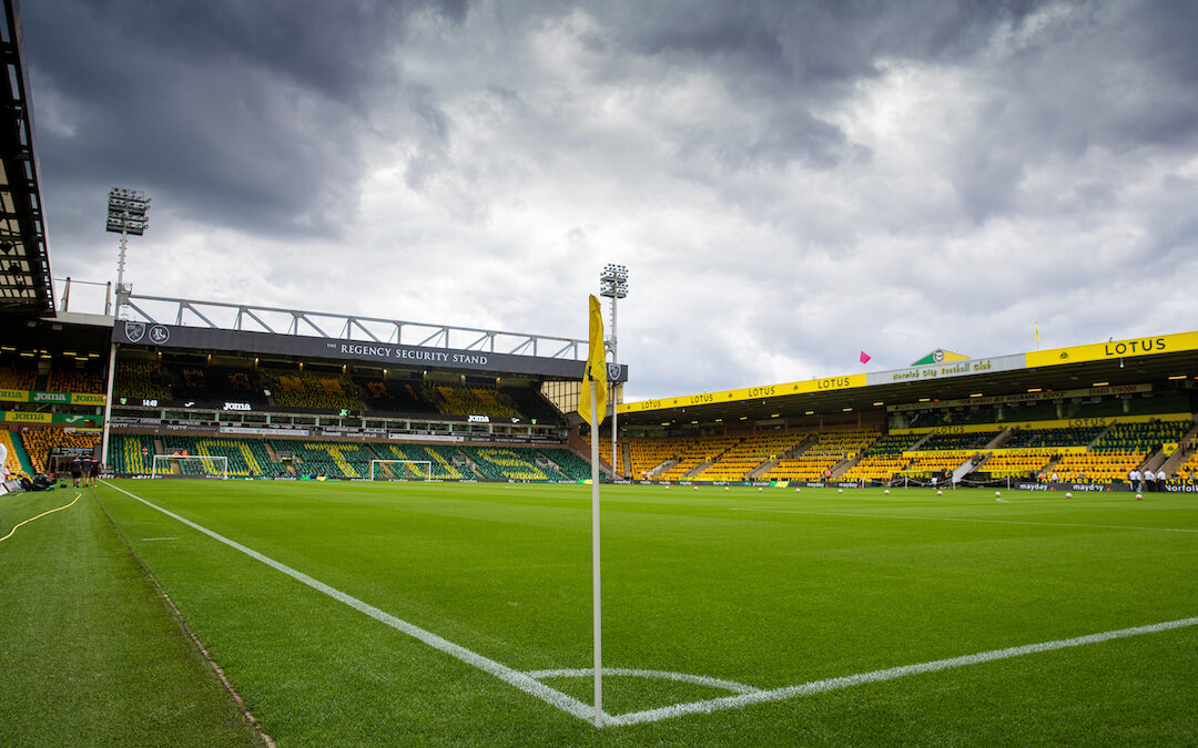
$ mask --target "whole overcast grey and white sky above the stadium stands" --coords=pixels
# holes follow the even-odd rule
[[[586,337],[618,262],[628,400],[1198,328],[1192,0],[22,11],[56,278],[117,186],[141,294]]]

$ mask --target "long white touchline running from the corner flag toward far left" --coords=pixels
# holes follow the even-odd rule
[[[464,663],[466,663],[468,665],[478,668],[479,670],[483,670],[484,673],[489,673],[490,675],[494,675],[495,677],[500,679],[501,681],[503,681],[506,683],[509,683],[512,686],[515,686],[520,691],[522,691],[522,692],[525,692],[525,693],[527,693],[530,695],[537,697],[541,701],[545,701],[546,704],[549,704],[551,706],[556,706],[557,709],[562,710],[563,712],[565,712],[568,714],[571,714],[571,716],[577,717],[580,719],[585,719],[587,722],[591,722],[594,718],[594,711],[595,711],[594,706],[591,706],[588,704],[583,704],[582,701],[579,701],[577,699],[575,699],[573,697],[565,695],[564,693],[562,693],[561,691],[557,691],[556,688],[550,688],[549,686],[546,686],[546,685],[544,685],[544,683],[534,680],[533,677],[531,677],[528,675],[525,675],[524,673],[521,673],[519,670],[515,670],[515,669],[509,668],[509,667],[507,667],[507,665],[504,665],[502,663],[498,663],[498,662],[496,662],[494,659],[490,659],[489,657],[484,657],[484,656],[479,655],[478,652],[471,651],[471,650],[468,650],[468,649],[466,649],[466,647],[464,647],[464,646],[461,646],[459,644],[454,644],[453,641],[449,641],[448,639],[443,639],[443,638],[438,637],[437,634],[435,634],[435,633],[432,633],[430,631],[425,631],[425,630],[420,628],[419,626],[416,626],[415,624],[409,624],[407,621],[400,620],[400,619],[395,618],[394,615],[391,615],[389,613],[380,610],[379,608],[375,608],[374,606],[371,606],[369,603],[365,603],[365,602],[358,600],[357,597],[353,597],[351,595],[346,595],[345,592],[343,592],[343,591],[340,591],[340,590],[338,590],[335,588],[332,588],[332,586],[325,584],[323,582],[317,582],[316,579],[313,579],[311,577],[309,577],[308,574],[305,574],[303,572],[296,571],[296,570],[291,568],[290,566],[288,566],[285,564],[282,564],[279,561],[276,561],[274,559],[265,557],[261,553],[254,551],[253,548],[247,548],[246,546],[242,546],[241,543],[238,543],[235,540],[229,540],[228,537],[225,537],[223,535],[219,535],[218,533],[213,533],[212,530],[210,530],[210,529],[207,529],[207,528],[205,528],[202,525],[199,525],[199,524],[192,522],[190,519],[187,519],[184,517],[180,517],[179,515],[176,515],[176,513],[174,513],[174,512],[171,512],[169,510],[165,510],[165,509],[163,509],[161,506],[157,506],[157,505],[155,505],[155,504],[152,504],[152,503],[143,499],[139,495],[129,493],[128,491],[121,488],[120,486],[114,486],[114,485],[109,484],[108,481],[101,481],[101,482],[103,482],[109,488],[113,488],[115,491],[120,491],[121,493],[123,493],[125,495],[127,495],[129,498],[133,498],[133,499],[137,499],[138,501],[141,501],[143,504],[145,504],[150,509],[157,510],[157,511],[167,515],[171,519],[177,519],[179,522],[182,522],[183,524],[186,524],[187,527],[192,528],[193,530],[202,533],[202,534],[207,535],[208,537],[211,537],[213,540],[218,540],[218,541],[223,542],[224,545],[229,546],[230,548],[234,548],[236,551],[241,551],[242,553],[244,553],[249,558],[252,558],[252,559],[254,559],[256,561],[261,561],[262,564],[266,564],[271,568],[274,568],[276,571],[280,571],[280,572],[285,573],[286,576],[291,577],[292,579],[295,579],[297,582],[301,582],[303,584],[307,584],[308,586],[310,586],[311,589],[314,589],[316,591],[320,591],[320,592],[323,592],[325,595],[328,595],[329,597],[332,597],[333,600],[337,600],[338,602],[343,602],[343,603],[350,606],[351,608],[355,608],[356,610],[365,613],[367,615],[369,615],[370,618],[375,619],[376,621],[386,624],[387,626],[391,626],[392,628],[394,628],[397,631],[400,631],[400,632],[403,632],[403,633],[412,637],[413,639],[418,639],[418,640],[423,641],[424,644],[428,644],[429,646],[431,646],[432,649],[435,649],[437,651],[441,651],[441,652],[444,652],[444,653],[447,653],[447,655],[449,655],[452,657],[455,657],[455,658],[460,659],[461,662],[464,662]],[[610,723],[612,720],[612,717],[610,714],[604,713],[603,714],[603,720],[605,723]]]

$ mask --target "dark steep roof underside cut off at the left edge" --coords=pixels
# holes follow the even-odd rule
[[[34,157],[32,107],[22,67],[16,0],[4,0],[0,54],[0,315],[54,314],[54,287]]]

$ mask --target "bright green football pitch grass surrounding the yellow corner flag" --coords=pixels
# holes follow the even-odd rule
[[[587,486],[117,485],[508,667],[591,664]],[[1198,735],[1198,627],[598,731],[126,494],[96,493],[283,746]],[[605,486],[604,663],[778,688],[1198,615],[1194,497],[1004,498]],[[589,679],[545,682],[591,700]],[[609,677],[604,704],[619,714],[721,695]]]

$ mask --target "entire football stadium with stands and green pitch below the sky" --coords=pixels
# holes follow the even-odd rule
[[[1198,332],[642,401],[611,360],[595,427],[581,298],[69,309],[6,50],[5,744],[1198,735]]]

